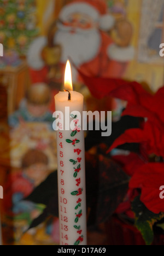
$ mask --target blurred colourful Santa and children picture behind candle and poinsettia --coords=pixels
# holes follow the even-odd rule
[[[0,203],[5,245],[59,242],[52,113],[67,59],[89,77],[136,81],[155,94],[164,82],[163,58],[159,55],[159,45],[164,43],[163,11],[163,0],[0,0],[0,43],[4,46],[4,56],[0,57],[0,185],[4,199]],[[84,95],[85,109],[112,110],[113,123],[119,122],[126,101],[110,96],[97,100],[74,66],[72,73],[74,90]],[[136,119],[122,122],[122,130],[138,127]],[[86,138],[86,168],[92,168],[91,172],[96,166],[106,170],[106,181],[112,169],[109,183],[117,184],[119,193],[114,197],[115,190],[107,185],[113,200],[101,197],[104,214],[99,216],[100,211],[96,218],[92,216],[94,207],[101,208],[101,204],[97,206],[95,201],[96,206],[91,206],[89,201],[89,245],[109,245],[115,242],[109,229],[115,234],[121,229],[122,220],[111,220],[111,215],[124,200],[120,195],[126,195],[127,188],[121,187],[121,181],[128,178],[118,163],[100,157],[108,146],[100,140],[95,147],[96,136],[93,133]],[[121,180],[114,170],[121,173]],[[127,220],[123,223],[129,224]]]

